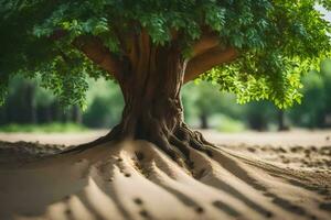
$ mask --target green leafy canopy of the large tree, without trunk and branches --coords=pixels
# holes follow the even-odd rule
[[[184,56],[205,30],[239,56],[202,79],[235,92],[241,102],[300,100],[300,75],[330,56],[330,23],[316,10],[329,0],[0,0],[0,94],[14,74],[41,76],[64,103],[84,105],[86,78],[108,77],[72,44],[94,35],[118,57],[128,32],[146,29],[168,46],[179,33]],[[65,32],[62,37],[58,33]]]

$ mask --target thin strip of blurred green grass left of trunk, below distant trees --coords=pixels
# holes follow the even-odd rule
[[[14,132],[28,132],[28,133],[70,133],[82,132],[88,129],[82,124],[76,123],[47,123],[47,124],[7,124],[0,127],[0,132],[14,133]]]

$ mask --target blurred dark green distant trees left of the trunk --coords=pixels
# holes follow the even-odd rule
[[[102,81],[102,85],[96,89],[97,94],[92,94],[92,97],[87,99],[87,110],[83,111],[78,105],[64,107],[52,92],[42,89],[38,80],[15,77],[10,82],[10,90],[4,105],[0,107],[0,125],[53,122],[73,122],[92,128],[113,125],[116,123],[113,119],[120,117],[119,113],[113,114],[115,109],[121,110],[121,95],[111,84],[113,90],[107,91],[106,96],[102,96],[103,92],[100,91],[106,85],[105,81]]]

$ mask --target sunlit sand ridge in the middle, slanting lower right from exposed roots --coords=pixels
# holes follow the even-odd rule
[[[224,218],[229,219],[246,215],[252,216],[254,219],[263,218],[232,195],[192,178],[159,150],[145,146],[145,151],[152,152],[153,158],[150,162],[143,162],[145,168],[149,169],[146,170],[146,173],[149,173],[148,178],[182,198],[183,202],[193,205],[193,208],[197,210],[199,207],[203,208],[209,218],[226,216]]]

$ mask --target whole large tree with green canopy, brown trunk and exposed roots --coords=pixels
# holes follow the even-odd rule
[[[93,144],[143,139],[184,163],[189,147],[209,153],[209,143],[183,122],[182,85],[202,77],[241,102],[298,101],[300,73],[330,54],[317,3],[331,8],[329,0],[2,0],[1,91],[13,74],[40,75],[63,103],[84,106],[86,77],[111,78],[122,119]]]

